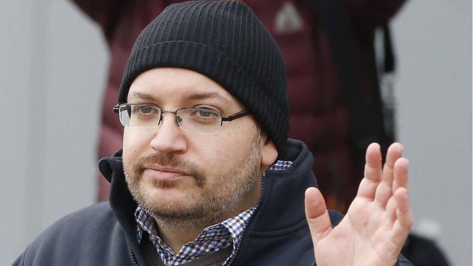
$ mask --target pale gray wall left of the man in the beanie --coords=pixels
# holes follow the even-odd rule
[[[69,1],[0,1],[0,265],[95,203],[108,71],[99,29]]]

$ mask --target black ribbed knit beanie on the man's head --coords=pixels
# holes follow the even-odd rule
[[[251,110],[281,152],[289,132],[285,66],[269,32],[239,1],[189,1],[168,6],[141,32],[118,95],[156,67],[181,67],[219,83]]]

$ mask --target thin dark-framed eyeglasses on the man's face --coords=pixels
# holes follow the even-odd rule
[[[129,128],[155,128],[162,121],[163,113],[176,115],[177,125],[190,132],[212,135],[219,132],[223,121],[232,121],[250,114],[249,110],[221,116],[214,110],[202,108],[180,108],[175,111],[161,110],[149,104],[121,104],[113,107],[113,112],[118,113],[120,123]]]

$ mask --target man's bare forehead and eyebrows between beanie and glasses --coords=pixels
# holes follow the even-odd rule
[[[174,67],[147,70],[133,80],[128,101],[146,100],[203,100],[241,105],[239,101],[214,80],[198,72]]]

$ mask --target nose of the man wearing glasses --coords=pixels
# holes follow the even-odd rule
[[[162,154],[185,153],[187,139],[177,125],[175,113],[163,112],[162,116],[156,135],[151,140],[151,147]]]

